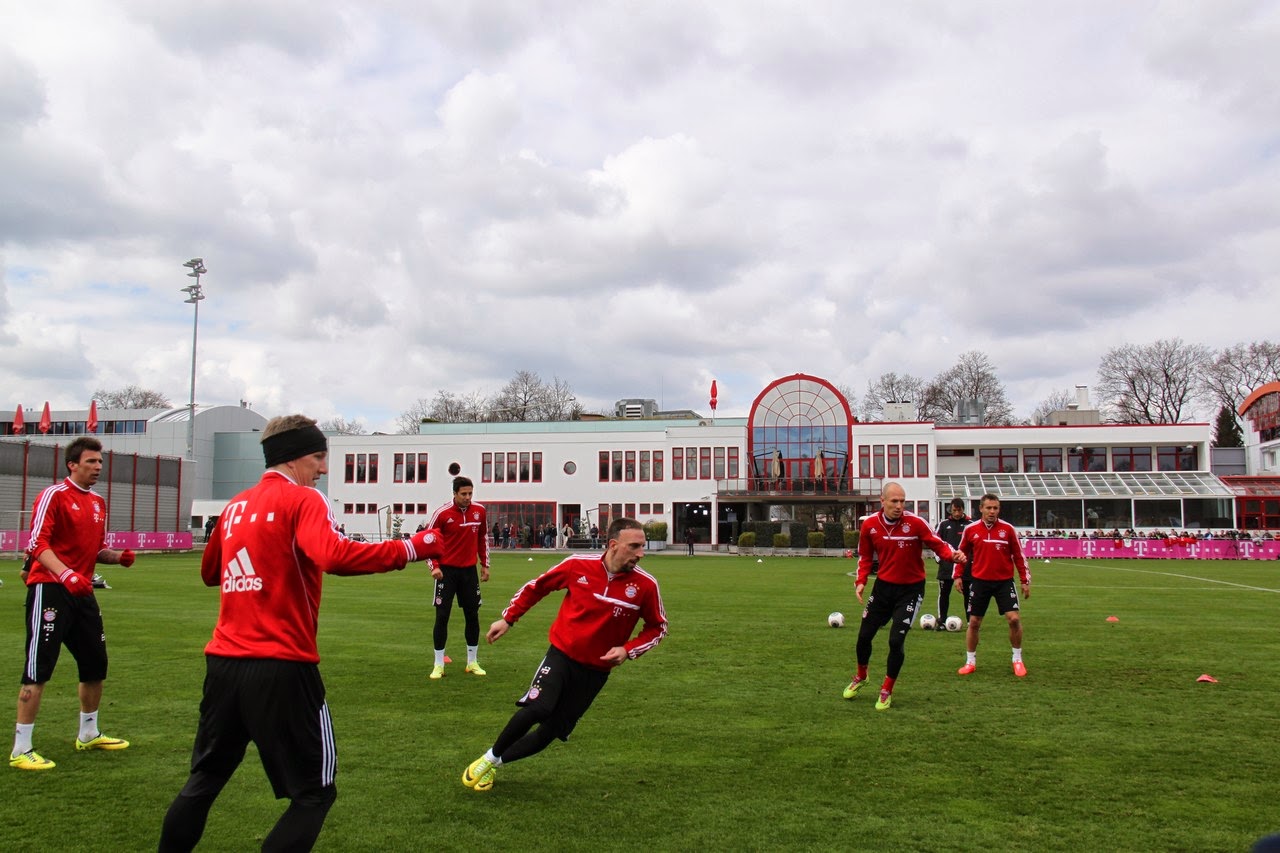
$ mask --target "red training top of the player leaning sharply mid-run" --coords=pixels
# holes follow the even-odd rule
[[[600,658],[614,646],[626,647],[627,657],[635,660],[667,635],[667,612],[654,576],[639,566],[609,576],[600,555],[566,557],[521,587],[502,617],[515,625],[557,589],[566,594],[552,622],[550,642],[582,666],[609,670],[613,665]],[[632,638],[641,619],[644,630]]]

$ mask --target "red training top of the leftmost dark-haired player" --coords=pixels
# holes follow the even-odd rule
[[[87,583],[93,583],[97,552],[106,543],[106,501],[92,489],[81,488],[72,478],[47,485],[36,497],[31,512],[32,557],[52,551],[68,569]],[[27,585],[56,584],[58,578],[40,562],[32,561]]]

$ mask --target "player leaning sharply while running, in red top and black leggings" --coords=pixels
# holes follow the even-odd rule
[[[488,640],[495,643],[543,597],[566,593],[552,622],[547,657],[493,747],[462,772],[467,788],[490,790],[498,767],[541,752],[556,738],[568,740],[613,667],[667,635],[658,581],[637,565],[644,528],[635,519],[616,519],[607,539],[603,555],[566,557],[526,583],[489,626]],[[644,628],[631,637],[640,620]]]

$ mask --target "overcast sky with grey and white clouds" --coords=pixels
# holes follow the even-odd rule
[[[1275,339],[1280,4],[0,0],[0,407],[745,415]]]

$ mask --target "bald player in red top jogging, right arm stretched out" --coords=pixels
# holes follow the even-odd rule
[[[877,711],[887,711],[893,702],[893,683],[902,670],[906,633],[924,599],[924,546],[943,560],[964,562],[965,556],[938,538],[928,523],[906,511],[906,492],[897,483],[886,483],[881,491],[881,511],[863,520],[858,537],[858,580],[854,592],[863,601],[863,589],[870,575],[873,557],[879,557],[876,585],[863,610],[858,629],[858,672],[845,688],[852,699],[867,684],[867,665],[872,660],[872,639],[884,625],[890,626],[888,663],[881,685]]]

